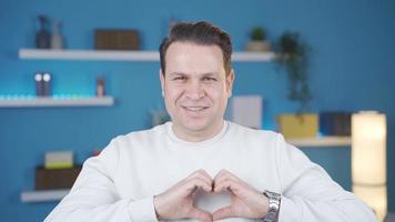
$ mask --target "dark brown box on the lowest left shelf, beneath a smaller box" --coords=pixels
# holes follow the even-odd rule
[[[36,169],[36,190],[70,189],[81,172],[82,167],[70,169]]]

